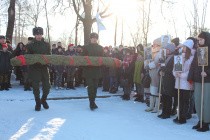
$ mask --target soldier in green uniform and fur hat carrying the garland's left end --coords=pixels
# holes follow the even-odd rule
[[[43,28],[35,27],[33,29],[33,35],[35,36],[34,40],[27,44],[26,49],[28,54],[44,54],[50,55],[51,49],[50,44],[45,42],[43,35]],[[41,104],[45,109],[48,109],[49,106],[46,102],[47,96],[50,91],[50,82],[49,82],[49,70],[47,65],[42,65],[36,63],[29,66],[29,79],[32,81],[33,94],[36,101],[35,110],[41,110]],[[40,90],[39,84],[42,82],[42,98],[40,99]]]

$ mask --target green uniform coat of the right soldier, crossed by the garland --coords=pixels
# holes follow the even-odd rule
[[[98,44],[89,44],[83,47],[83,56],[102,57],[103,47]],[[102,77],[101,67],[88,66],[83,67],[83,77],[89,79],[99,79]]]

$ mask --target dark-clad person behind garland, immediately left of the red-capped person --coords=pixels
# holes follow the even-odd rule
[[[63,52],[61,46],[58,47],[58,51],[57,51],[56,55],[64,55],[64,52]],[[56,65],[56,66],[54,66],[54,69],[55,69],[55,77],[56,77],[55,88],[56,88],[56,90],[63,89],[62,76],[63,76],[63,72],[64,72],[64,67],[60,66],[60,65]]]

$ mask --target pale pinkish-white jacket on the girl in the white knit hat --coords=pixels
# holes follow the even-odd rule
[[[187,79],[188,79],[188,74],[189,74],[189,70],[190,70],[194,55],[191,55],[190,58],[186,61],[185,61],[184,53],[182,54],[182,56],[183,56],[184,62],[183,62],[183,71],[180,76],[180,85],[179,85],[179,78],[175,77],[176,73],[175,73],[175,70],[173,69],[173,75],[176,79],[175,88],[176,89],[179,88],[179,89],[183,89],[183,90],[193,90],[193,84],[190,83]]]

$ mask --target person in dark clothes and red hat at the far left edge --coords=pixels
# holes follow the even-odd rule
[[[9,90],[9,73],[11,70],[11,53],[7,50],[7,44],[2,44],[0,50],[0,90]]]

